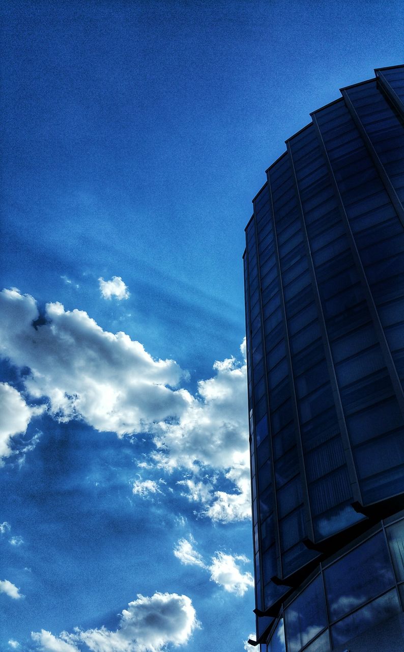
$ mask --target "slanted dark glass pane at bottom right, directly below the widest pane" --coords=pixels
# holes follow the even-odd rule
[[[334,645],[341,645],[399,612],[401,605],[394,589],[336,623],[331,628],[332,641]]]

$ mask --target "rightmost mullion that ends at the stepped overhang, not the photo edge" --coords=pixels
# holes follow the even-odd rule
[[[289,155],[291,157],[291,165],[293,170],[293,178],[295,181],[296,194],[298,196],[298,207],[300,212],[300,218],[302,220],[302,231],[304,234],[304,246],[306,248],[306,256],[308,258],[309,271],[311,276],[311,284],[313,286],[313,293],[315,298],[315,304],[317,306],[317,314],[319,316],[319,325],[321,330],[321,336],[323,338],[323,346],[325,351],[325,359],[328,369],[328,375],[330,378],[330,385],[332,390],[332,396],[334,398],[334,405],[336,407],[336,413],[338,417],[339,432],[341,434],[341,440],[343,444],[343,450],[345,452],[345,460],[347,462],[347,469],[349,473],[349,481],[351,482],[352,495],[354,501],[362,503],[362,494],[360,492],[360,486],[358,482],[358,475],[356,473],[356,467],[354,464],[353,452],[351,448],[351,442],[349,441],[349,435],[347,430],[347,424],[345,422],[345,415],[343,412],[341,395],[339,394],[339,387],[336,378],[336,372],[334,368],[334,362],[332,360],[332,353],[330,348],[330,340],[328,338],[327,327],[325,323],[325,317],[323,312],[323,305],[321,303],[321,297],[319,293],[319,286],[317,284],[317,276],[315,274],[315,267],[313,263],[313,256],[311,255],[311,247],[308,239],[308,232],[306,228],[306,220],[304,219],[304,211],[302,207],[302,202],[300,200],[300,193],[298,191],[298,183],[296,177],[295,164],[293,162],[293,155],[291,152],[291,145],[289,141],[286,143]]]

